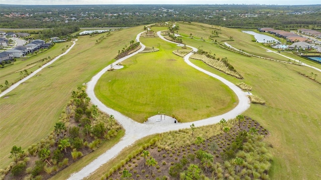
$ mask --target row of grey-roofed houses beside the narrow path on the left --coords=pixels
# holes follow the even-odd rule
[[[14,58],[24,57],[29,53],[38,51],[39,49],[49,48],[51,45],[51,43],[46,43],[45,41],[38,39],[24,46],[17,46],[13,49],[1,52],[0,63],[2,63],[3,61],[13,60]]]

